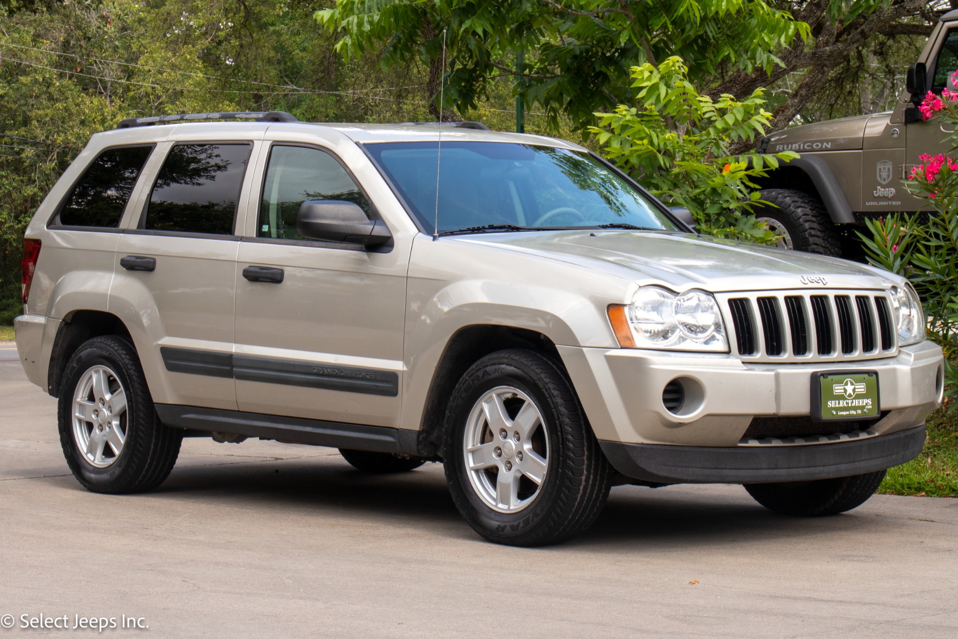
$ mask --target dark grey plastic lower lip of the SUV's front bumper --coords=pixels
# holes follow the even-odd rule
[[[848,477],[904,464],[922,452],[924,426],[829,445],[599,444],[616,470],[643,482],[764,484]]]

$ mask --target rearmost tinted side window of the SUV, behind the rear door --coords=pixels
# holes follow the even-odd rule
[[[80,177],[57,216],[65,226],[120,225],[126,200],[152,147],[107,148]]]

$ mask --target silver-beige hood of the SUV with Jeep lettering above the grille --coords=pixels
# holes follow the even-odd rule
[[[559,260],[676,292],[792,288],[871,288],[901,284],[873,266],[690,234],[656,231],[533,231],[455,238]]]

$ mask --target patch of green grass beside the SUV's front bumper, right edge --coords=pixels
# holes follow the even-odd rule
[[[922,454],[888,468],[879,493],[958,497],[958,410],[945,410],[939,408],[928,417]]]

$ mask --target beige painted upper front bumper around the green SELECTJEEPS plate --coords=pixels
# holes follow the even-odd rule
[[[599,440],[623,444],[737,446],[755,417],[809,416],[816,372],[878,372],[883,437],[924,424],[941,404],[943,355],[931,342],[894,357],[809,364],[743,363],[729,354],[560,346],[559,354]],[[666,384],[698,389],[678,414],[662,401]],[[820,444],[835,445],[835,444]]]

